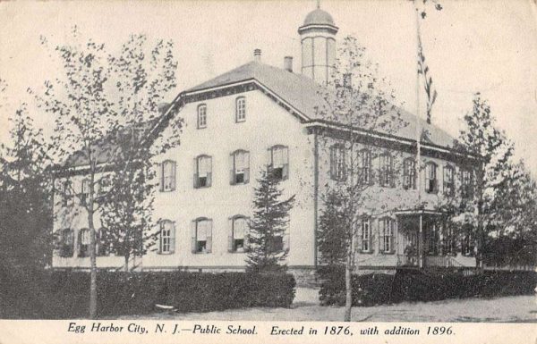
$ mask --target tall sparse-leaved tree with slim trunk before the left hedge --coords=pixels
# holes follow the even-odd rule
[[[121,201],[117,197],[107,198],[117,189],[105,192],[99,189],[101,185],[107,186],[107,180],[114,180],[110,175],[121,175],[125,168],[136,166],[135,161],[125,164],[125,159],[143,156],[127,155],[122,151],[125,130],[155,124],[153,120],[158,118],[159,102],[166,96],[166,91],[175,87],[176,63],[171,42],[160,41],[148,47],[144,36],[135,35],[115,56],[107,52],[105,44],[92,39],[80,42],[79,38],[78,29],[74,28],[72,42],[53,49],[63,75],[55,81],[45,82],[46,89],[43,96],[38,96],[38,103],[55,116],[55,156],[63,162],[56,167],[56,172],[65,181],[55,185],[55,191],[64,199],[74,197],[78,200],[76,204],[71,202],[70,209],[63,209],[62,216],[85,216],[90,231],[90,317],[95,318],[96,215],[102,210],[104,200],[108,200],[108,209],[114,208],[114,199]],[[47,39],[42,38],[42,43],[47,45]],[[144,138],[145,133],[138,130],[135,135]],[[146,149],[144,145],[149,143],[149,139],[132,140],[130,149]],[[83,179],[80,190],[73,189],[72,175]],[[122,206],[118,204],[117,209],[124,209]],[[132,212],[135,214],[137,208]]]

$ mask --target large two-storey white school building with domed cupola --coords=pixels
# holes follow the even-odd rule
[[[293,70],[291,57],[285,57],[283,68],[265,64],[256,49],[251,62],[175,98],[175,104],[181,104],[176,115],[183,118],[184,127],[181,145],[158,161],[160,189],[153,215],[162,219],[158,249],[135,257],[137,269],[243,269],[253,189],[260,171],[267,168],[281,177],[286,196],[296,198],[288,231],[281,238],[290,270],[309,272],[319,264],[320,193],[331,178],[333,163],[320,149],[319,136],[337,132],[334,123],[318,114],[319,89],[334,65],[337,29],[330,14],[318,8],[298,29],[302,71]],[[388,182],[373,174],[368,177],[378,199],[373,199],[371,209],[377,210],[364,218],[357,240],[361,269],[474,265],[473,239],[452,238],[435,210],[444,195],[456,192],[471,178],[469,161],[454,152],[454,138],[445,131],[411,113],[402,115],[408,125],[396,135],[378,132],[374,142],[362,144],[361,158],[368,171],[377,171],[387,162],[400,165],[402,171],[387,175]],[[418,122],[428,135],[421,142],[421,164],[426,167],[418,169],[421,178],[416,179]],[[372,149],[385,153],[371,158]],[[398,164],[388,157],[394,150]],[[82,193],[83,179],[83,175],[72,178],[74,188]],[[422,180],[421,185],[415,180]],[[424,206],[415,210],[420,188]],[[54,256],[54,267],[90,266],[86,217],[56,216],[55,231],[70,234]],[[99,225],[97,221],[96,228]],[[409,247],[419,247],[420,254],[411,253]],[[98,256],[97,264],[121,267],[124,258]]]

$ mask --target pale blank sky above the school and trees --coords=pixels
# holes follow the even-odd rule
[[[498,126],[515,141],[537,176],[537,2],[534,0],[439,0],[443,9],[427,9],[421,21],[423,49],[439,92],[432,122],[457,136],[473,95],[488,99]],[[82,37],[117,48],[132,33],[149,40],[172,39],[179,62],[177,88],[229,71],[252,59],[260,48],[263,63],[283,66],[294,56],[300,72],[297,29],[316,1],[139,1],[0,2],[0,78],[8,83],[0,109],[0,142],[9,129],[7,116],[22,102],[49,133],[52,118],[33,105],[26,89],[42,89],[57,75],[57,64],[39,44],[45,36],[64,43],[73,25]],[[407,0],[328,1],[339,32],[353,35],[366,55],[379,63],[397,100],[416,113],[416,20]],[[423,104],[422,99],[422,104]],[[423,111],[422,111],[423,113]]]

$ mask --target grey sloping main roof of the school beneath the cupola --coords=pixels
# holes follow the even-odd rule
[[[189,94],[211,88],[225,87],[246,80],[258,81],[262,86],[268,88],[268,90],[277,94],[277,96],[284,99],[289,105],[300,111],[308,120],[322,120],[318,109],[323,108],[325,103],[320,96],[323,93],[323,88],[319,84],[302,74],[255,61],[243,64],[214,79],[189,88],[184,93]],[[424,132],[422,135],[423,142],[440,147],[454,147],[456,139],[447,134],[446,131],[427,123],[413,115],[413,113],[406,112],[403,109],[399,110],[401,119],[406,125],[397,130],[396,133],[393,133],[393,135],[415,140],[416,125],[419,122]],[[382,131],[379,130],[379,132],[381,133]]]

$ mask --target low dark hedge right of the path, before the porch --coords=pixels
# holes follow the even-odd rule
[[[343,267],[320,270],[320,303],[345,305]],[[353,306],[375,306],[402,301],[436,301],[447,298],[492,298],[533,295],[537,273],[476,271],[465,276],[452,270],[399,270],[395,275],[353,275]]]

